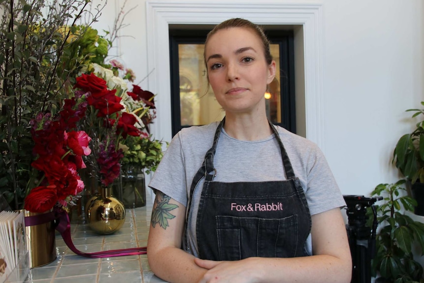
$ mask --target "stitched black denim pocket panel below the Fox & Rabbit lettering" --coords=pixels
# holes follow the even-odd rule
[[[219,260],[296,255],[297,215],[282,219],[216,216],[215,220]]]

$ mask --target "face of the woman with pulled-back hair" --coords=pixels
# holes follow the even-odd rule
[[[264,94],[275,76],[275,62],[268,65],[262,41],[254,31],[217,31],[206,44],[205,59],[216,100],[227,113],[265,109]]]

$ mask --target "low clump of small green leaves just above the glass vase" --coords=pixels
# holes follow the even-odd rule
[[[146,170],[145,172],[149,174],[156,170],[163,157],[163,142],[151,140],[151,137],[127,136],[122,144],[128,147],[124,149],[121,161],[123,171],[128,170],[128,167],[137,167]]]

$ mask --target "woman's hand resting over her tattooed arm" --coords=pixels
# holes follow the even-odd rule
[[[195,258],[194,262],[208,271],[199,283],[256,283],[261,275],[254,257],[237,261],[214,261]]]

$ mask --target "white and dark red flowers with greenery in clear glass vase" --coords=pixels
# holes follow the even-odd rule
[[[162,142],[155,140],[149,133],[149,124],[155,118],[154,94],[132,85],[135,79],[131,69],[124,69],[118,60],[101,66],[92,64],[93,73],[104,78],[109,88],[116,90],[123,106],[118,127],[122,129],[119,148],[123,154],[121,159],[121,174],[115,182],[114,195],[124,203],[125,207],[145,205],[144,171],[154,171],[160,161]]]

